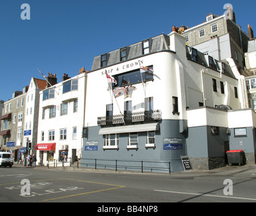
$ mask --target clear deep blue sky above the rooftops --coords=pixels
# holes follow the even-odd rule
[[[226,3],[242,30],[250,24],[256,33],[255,0],[0,0],[0,99],[43,79],[38,68],[61,82],[91,70],[97,55],[222,16]]]

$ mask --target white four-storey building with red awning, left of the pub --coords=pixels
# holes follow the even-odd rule
[[[51,76],[51,75],[50,75]],[[52,78],[55,78],[54,76]],[[86,72],[40,92],[39,128],[35,146],[40,165],[80,158],[84,127]]]

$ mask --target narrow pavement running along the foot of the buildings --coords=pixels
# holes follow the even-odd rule
[[[180,171],[175,173],[165,173],[165,172],[143,172],[134,171],[134,170],[118,170],[115,169],[93,169],[88,167],[76,167],[76,166],[66,166],[66,167],[47,167],[47,166],[39,166],[36,167],[28,167],[24,164],[14,163],[13,167],[22,167],[26,169],[49,169],[53,171],[79,171],[79,172],[95,172],[95,173],[133,173],[133,174],[141,174],[141,175],[184,175],[184,176],[196,176],[196,175],[232,175],[234,173],[242,173],[245,171],[255,171],[256,173],[256,164],[250,163],[247,165],[226,165],[225,167],[220,167],[217,169],[211,170],[197,170],[193,169],[190,171]],[[256,174],[255,174],[256,175]]]

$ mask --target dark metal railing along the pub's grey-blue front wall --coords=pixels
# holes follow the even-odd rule
[[[81,158],[80,165],[81,167],[93,167],[94,169],[115,169],[116,171],[133,169],[141,171],[141,173],[144,171],[165,171],[171,173],[170,161],[130,161]]]

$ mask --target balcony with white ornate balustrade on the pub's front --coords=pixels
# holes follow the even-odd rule
[[[132,113],[120,113],[118,115],[100,116],[97,124],[99,126],[111,126],[113,124],[132,124],[134,122],[161,120],[161,110],[137,111]]]

